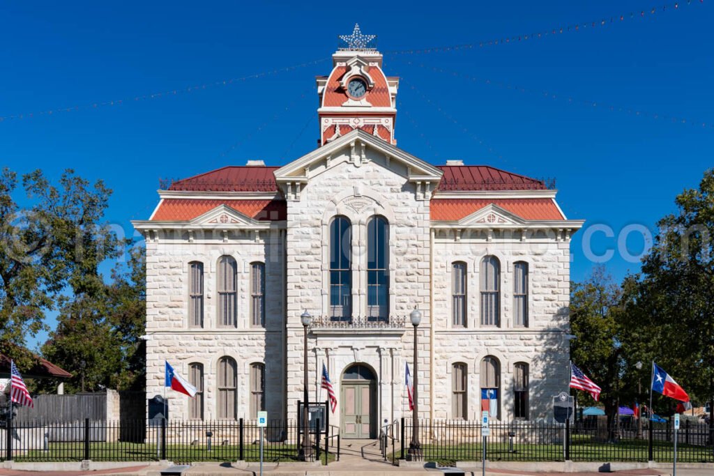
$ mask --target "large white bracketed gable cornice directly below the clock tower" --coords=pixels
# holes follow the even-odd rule
[[[368,163],[368,149],[383,155],[387,164],[400,163],[406,171],[404,175],[410,182],[430,183],[432,188],[436,188],[441,181],[443,175],[441,169],[361,129],[336,138],[325,146],[278,168],[275,171],[276,181],[283,187],[286,197],[290,197],[298,192],[301,184],[307,183],[311,176],[336,166],[337,162],[332,160],[333,157],[346,156],[346,160],[357,167]]]

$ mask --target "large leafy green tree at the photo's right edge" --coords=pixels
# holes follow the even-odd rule
[[[675,204],[677,211],[658,222],[660,231],[643,260],[642,272],[625,282],[625,308],[640,331],[630,340],[648,361],[667,369],[693,400],[711,401],[714,169],[704,173],[699,188],[680,193]],[[712,407],[710,425],[714,425]],[[714,436],[714,426],[710,432]]]

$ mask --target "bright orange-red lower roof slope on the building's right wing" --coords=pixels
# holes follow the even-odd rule
[[[433,221],[457,221],[493,203],[524,220],[565,220],[550,198],[434,198],[430,203]]]

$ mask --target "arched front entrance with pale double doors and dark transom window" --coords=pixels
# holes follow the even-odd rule
[[[345,438],[377,437],[377,378],[363,364],[349,366],[340,383],[341,432]]]

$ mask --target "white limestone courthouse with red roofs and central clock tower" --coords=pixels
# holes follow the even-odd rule
[[[308,313],[309,396],[327,399],[324,365],[343,437],[410,415],[415,332],[420,417],[478,419],[482,390],[496,390],[498,419],[548,418],[568,390],[570,237],[583,221],[544,181],[398,148],[399,79],[356,34],[317,78],[315,150],[174,181],[134,222],[147,397],[164,394],[167,360],[198,388],[168,391],[171,418],[295,418]]]

